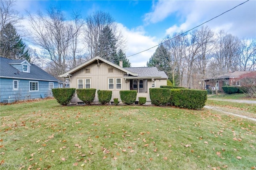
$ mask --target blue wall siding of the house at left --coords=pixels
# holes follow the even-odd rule
[[[18,90],[14,90],[13,88],[13,80],[18,80]],[[29,91],[29,82],[38,82],[38,92],[30,92]],[[58,88],[58,82],[53,82],[54,88]],[[42,98],[41,94],[44,97],[52,97],[52,90],[49,90],[49,82],[48,81],[37,81],[37,80],[24,80],[24,79],[12,79],[12,78],[0,78],[0,95],[1,100],[6,100],[9,98],[14,98],[16,101],[18,100],[29,100],[29,99],[37,99]]]

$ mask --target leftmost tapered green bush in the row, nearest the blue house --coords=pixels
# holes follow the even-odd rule
[[[75,96],[75,88],[53,88],[52,94],[57,102],[63,106],[70,104],[72,98]]]

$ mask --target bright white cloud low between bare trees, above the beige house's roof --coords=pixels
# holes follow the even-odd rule
[[[158,43],[156,42],[156,37],[146,36],[142,27],[137,27],[135,29],[128,29],[121,23],[118,23],[118,27],[122,30],[122,34],[126,37],[127,48],[126,57],[134,55],[150,47],[154,47]],[[154,47],[143,53],[128,57],[132,67],[146,66],[147,61],[153,53],[156,51],[157,47]]]

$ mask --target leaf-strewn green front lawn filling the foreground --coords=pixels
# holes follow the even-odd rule
[[[0,111],[2,165],[33,170],[256,167],[256,123],[207,109],[61,106],[41,100],[4,105]]]

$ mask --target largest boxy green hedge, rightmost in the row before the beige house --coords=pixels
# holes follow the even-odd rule
[[[200,109],[207,100],[206,90],[171,89],[170,105],[188,109]]]

